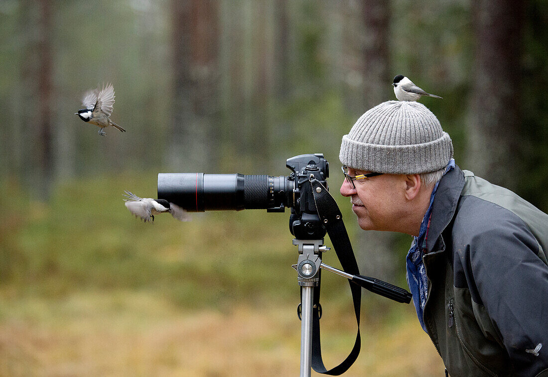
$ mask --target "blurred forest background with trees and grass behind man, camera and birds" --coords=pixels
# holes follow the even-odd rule
[[[546,1],[2,0],[0,25],[0,375],[295,375],[289,215],[150,226],[123,190],[323,153],[362,273],[405,286],[409,237],[359,231],[338,194],[341,137],[397,74],[443,97],[421,102],[457,164],[548,211]],[[73,114],[106,82],[127,132],[101,137]],[[329,368],[355,324],[323,277]],[[364,293],[362,344],[346,375],[443,373],[412,305]]]

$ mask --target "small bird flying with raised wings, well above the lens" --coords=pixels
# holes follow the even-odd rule
[[[88,91],[84,94],[82,104],[85,109],[78,110],[75,115],[78,115],[84,122],[92,123],[92,125],[99,127],[99,134],[106,135],[103,131],[105,127],[116,127],[118,130],[125,132],[125,130],[118,126],[115,122],[111,121],[109,116],[112,112],[112,105],[114,104],[114,88],[112,84],[107,84],[101,90],[99,88]]]

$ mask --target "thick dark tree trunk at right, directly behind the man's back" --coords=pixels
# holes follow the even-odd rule
[[[521,43],[524,3],[472,2],[475,46],[468,162],[478,175],[510,189],[522,161],[520,146]]]

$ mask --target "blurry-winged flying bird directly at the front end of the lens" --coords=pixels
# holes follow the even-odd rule
[[[174,218],[180,221],[189,221],[188,213],[176,204],[164,199],[139,198],[139,196],[125,192],[125,206],[135,217],[140,217],[144,222],[154,221],[154,215],[162,212],[169,212]]]

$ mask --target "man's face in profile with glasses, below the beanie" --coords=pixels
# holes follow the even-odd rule
[[[357,176],[370,172],[349,168],[348,173]],[[364,230],[401,231],[398,224],[406,205],[402,176],[384,174],[353,182],[356,188],[344,179],[340,192],[350,197],[359,226]]]

